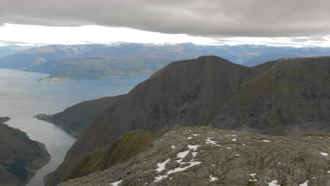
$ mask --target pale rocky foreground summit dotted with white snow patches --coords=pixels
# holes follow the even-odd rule
[[[126,163],[59,186],[327,186],[329,138],[325,133],[275,137],[181,128],[159,137]]]

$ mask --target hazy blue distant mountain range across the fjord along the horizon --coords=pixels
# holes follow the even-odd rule
[[[0,48],[1,54],[1,48]],[[0,58],[0,68],[48,73],[42,81],[148,76],[171,61],[214,55],[233,63],[256,66],[288,57],[330,56],[330,48],[264,45],[202,46],[185,44],[49,45]]]

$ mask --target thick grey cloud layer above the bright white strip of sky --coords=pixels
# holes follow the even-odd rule
[[[326,0],[0,0],[0,24],[132,27],[202,36],[330,34]]]

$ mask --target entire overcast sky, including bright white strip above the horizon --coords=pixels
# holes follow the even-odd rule
[[[330,46],[326,0],[0,0],[0,44]]]

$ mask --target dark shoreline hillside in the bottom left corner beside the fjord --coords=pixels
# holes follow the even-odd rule
[[[26,185],[50,160],[44,144],[4,124],[10,118],[0,118],[0,185]]]

